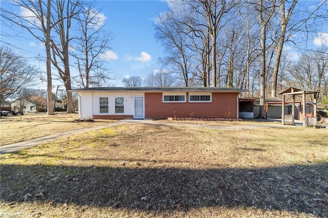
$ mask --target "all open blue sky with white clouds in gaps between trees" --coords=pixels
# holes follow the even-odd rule
[[[10,2],[10,0],[6,0]],[[0,0],[1,7],[7,7],[3,4],[5,1]],[[96,8],[100,10],[99,18],[105,22],[105,30],[110,31],[114,38],[111,43],[111,50],[106,52],[103,58],[109,64],[111,72],[118,76],[113,81],[115,86],[124,86],[122,79],[129,76],[139,76],[145,78],[147,74],[161,69],[158,58],[163,56],[163,48],[160,42],[154,38],[153,24],[156,17],[168,10],[169,1],[165,0],[135,0],[135,1],[112,1],[103,0],[95,1]],[[300,1],[302,2],[302,1]],[[315,1],[309,1],[313,3]],[[306,2],[303,2],[306,3]],[[18,10],[18,9],[16,9]],[[24,11],[17,11],[24,13]],[[322,43],[328,46],[328,28],[323,25],[327,31],[318,33],[313,38],[312,45],[320,46]],[[45,47],[36,39],[26,32],[26,30],[9,28],[1,23],[1,32],[19,37],[2,37],[2,41],[8,41],[12,45],[20,48],[19,52],[26,57],[45,56]],[[293,59],[298,58],[298,53],[293,51],[291,46],[286,45]],[[45,71],[45,63],[33,61],[41,70]],[[54,70],[55,71],[55,70]],[[71,70],[74,74],[74,69]],[[62,84],[58,80],[53,80],[53,84]],[[39,83],[40,89],[46,89],[46,82]]]

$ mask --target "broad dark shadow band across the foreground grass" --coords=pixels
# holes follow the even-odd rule
[[[203,170],[142,168],[132,163],[1,165],[1,200],[159,212],[241,206],[328,216],[327,178],[328,163]]]

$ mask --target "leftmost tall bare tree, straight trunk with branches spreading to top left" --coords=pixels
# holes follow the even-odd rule
[[[52,76],[50,36],[54,24],[51,23],[51,1],[12,0],[13,4],[29,11],[28,15],[17,14],[1,8],[1,16],[8,22],[27,30],[34,38],[45,44],[47,66],[48,115],[54,115],[52,108]]]

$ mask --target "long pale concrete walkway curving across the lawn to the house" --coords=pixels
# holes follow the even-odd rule
[[[152,121],[152,120],[134,120],[134,119],[125,119],[125,120],[120,120],[117,123],[110,123],[106,125],[100,125],[100,126],[92,126],[92,127],[87,127],[87,128],[82,128],[82,129],[75,129],[75,130],[70,130],[67,132],[63,133],[56,133],[40,138],[35,138],[35,139],[29,139],[26,141],[22,142],[16,142],[13,144],[7,144],[7,145],[2,145],[0,146],[0,154],[6,154],[10,152],[15,152],[20,149],[28,148],[34,145],[46,143],[55,139],[59,138],[64,138],[64,137],[69,137],[72,135],[80,134],[80,133],[85,133],[89,132],[92,130],[97,130],[97,129],[103,129],[111,126],[116,126],[120,125],[122,123],[141,123],[141,124],[150,124],[150,125],[165,125],[165,126],[175,126],[175,127],[187,127],[187,128],[206,128],[206,129],[220,129],[220,130],[233,130],[233,129],[251,129],[251,128],[261,128],[261,127],[295,127],[295,126],[282,126],[274,123],[270,124],[253,124],[253,125],[231,125],[231,126],[208,126],[208,125],[199,125],[199,124],[186,124],[186,123],[170,123],[170,122],[157,122],[157,121]]]

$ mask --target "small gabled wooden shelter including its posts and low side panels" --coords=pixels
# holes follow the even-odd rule
[[[313,94],[313,116],[306,116],[306,95]],[[317,97],[318,97],[319,91],[316,90],[310,90],[306,88],[297,88],[297,87],[290,87],[280,93],[282,95],[282,113],[281,113],[281,122],[282,124],[292,124],[294,125],[295,120],[295,95],[302,95],[302,115],[303,115],[303,126],[313,126],[317,124]],[[286,95],[292,95],[292,115],[285,115],[285,96]],[[286,122],[287,120],[290,120],[290,122]]]

